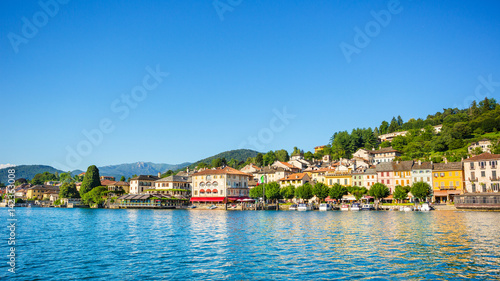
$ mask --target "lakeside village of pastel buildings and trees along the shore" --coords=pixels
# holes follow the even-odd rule
[[[390,140],[399,134],[381,137]],[[500,210],[500,154],[492,154],[491,146],[487,139],[472,143],[469,152],[481,153],[460,162],[397,161],[401,153],[385,147],[359,149],[352,159],[330,161],[325,155],[308,161],[299,153],[264,167],[188,168],[128,182],[99,176],[97,167],[90,166],[79,175],[80,182],[24,183],[16,187],[15,197],[17,206],[26,207],[413,210],[428,202],[451,209]],[[323,148],[315,147],[315,152]]]

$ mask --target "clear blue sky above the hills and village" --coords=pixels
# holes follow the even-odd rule
[[[499,1],[240,2],[220,17],[212,0],[72,0],[52,15],[1,1],[0,164],[192,162],[256,149],[244,142],[259,134],[261,151],[307,151],[335,131],[463,108],[479,76],[500,82]],[[382,10],[390,21],[374,24]],[[372,28],[368,44],[356,27]],[[350,62],[342,42],[359,47]],[[169,75],[125,106],[148,66]],[[273,123],[284,107],[295,118]],[[82,131],[101,120],[114,130],[88,149]]]

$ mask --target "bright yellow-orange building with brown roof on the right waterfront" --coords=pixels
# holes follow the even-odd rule
[[[455,195],[464,192],[462,162],[435,163],[432,169],[433,202],[453,202]]]

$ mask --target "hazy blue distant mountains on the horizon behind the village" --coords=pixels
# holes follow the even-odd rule
[[[125,176],[125,178],[132,177],[133,175],[157,175],[158,173],[165,173],[168,170],[180,170],[186,167],[190,167],[193,169],[197,164],[204,162],[210,164],[214,158],[226,158],[227,161],[231,159],[235,159],[238,161],[246,161],[248,157],[255,157],[258,154],[257,151],[249,150],[249,149],[237,149],[219,153],[212,157],[208,157],[197,161],[195,163],[182,163],[182,164],[163,164],[163,163],[151,163],[151,162],[137,162],[137,163],[129,163],[129,164],[119,164],[119,165],[110,165],[103,166],[99,168],[99,174],[101,176],[113,176],[117,180],[121,178],[121,176]],[[8,169],[12,169],[12,167],[0,169],[0,182],[7,183],[8,177]],[[25,178],[32,179],[36,174],[40,174],[43,172],[49,173],[65,173],[65,171],[58,170],[51,166],[46,165],[19,165],[15,167],[16,169],[16,178]],[[72,175],[78,175],[84,171],[75,170],[72,171]]]

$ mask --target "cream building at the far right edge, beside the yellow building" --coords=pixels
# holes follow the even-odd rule
[[[500,154],[488,152],[464,160],[467,192],[499,192]]]

